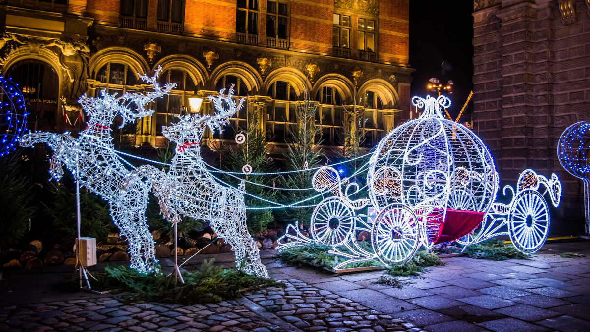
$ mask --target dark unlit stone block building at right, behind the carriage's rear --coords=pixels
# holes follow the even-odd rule
[[[474,1],[474,129],[502,184],[532,168],[558,174],[553,232],[584,229],[583,187],[563,170],[563,130],[590,120],[590,1]]]

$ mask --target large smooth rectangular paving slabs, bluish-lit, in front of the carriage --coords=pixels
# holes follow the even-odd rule
[[[585,258],[562,258],[576,252]],[[348,275],[308,267],[270,269],[428,331],[590,331],[590,242],[546,244],[530,260],[443,258],[401,288],[377,284],[382,272]]]

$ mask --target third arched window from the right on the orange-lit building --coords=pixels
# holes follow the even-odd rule
[[[297,94],[291,84],[276,81],[268,89],[270,101],[266,111],[267,139],[271,142],[284,143],[288,135],[288,126],[295,123]]]

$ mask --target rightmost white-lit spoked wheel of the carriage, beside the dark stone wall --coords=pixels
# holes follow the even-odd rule
[[[508,228],[516,249],[532,253],[543,246],[549,234],[549,208],[536,190],[518,193],[510,206]]]

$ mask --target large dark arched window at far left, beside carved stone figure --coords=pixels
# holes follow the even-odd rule
[[[25,98],[30,113],[27,127],[54,131],[60,79],[53,67],[40,60],[24,60],[11,67],[8,76],[18,83]]]

